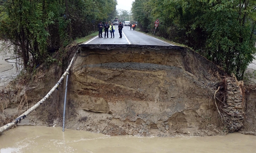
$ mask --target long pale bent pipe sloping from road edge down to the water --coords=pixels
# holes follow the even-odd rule
[[[80,49],[80,48],[79,48]],[[16,119],[14,119],[12,122],[6,124],[5,126],[2,126],[0,128],[0,134],[2,134],[2,132],[8,130],[9,128],[12,128],[13,126],[15,126],[15,124],[20,123],[21,120],[25,119],[26,116],[28,116],[28,114],[30,114],[31,112],[33,112],[33,110],[35,110],[37,107],[39,107],[42,103],[44,103],[49,96],[51,96],[51,94],[53,93],[53,91],[61,84],[62,80],[65,78],[66,75],[68,75],[68,71],[74,61],[74,57],[76,57],[77,53],[79,52],[79,49],[77,50],[77,52],[74,54],[74,56],[72,57],[69,66],[67,67],[65,73],[63,73],[63,75],[61,76],[60,80],[55,84],[55,86],[48,92],[48,94],[46,94],[46,96],[44,96],[44,98],[42,98],[38,103],[36,103],[34,106],[30,107],[30,109],[28,109],[26,112],[24,112],[23,114],[21,114],[19,117],[17,117]]]

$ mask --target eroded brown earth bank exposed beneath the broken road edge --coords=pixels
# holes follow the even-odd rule
[[[216,110],[214,92],[224,75],[187,48],[81,46],[70,70],[65,125],[108,135],[223,135],[228,129]],[[21,110],[40,100],[60,76],[60,69],[52,68],[43,79],[30,84],[28,104]],[[22,124],[61,126],[64,84]],[[218,93],[216,97],[224,98]],[[247,104],[254,105],[252,99]],[[217,105],[221,107],[219,101]],[[255,123],[252,112],[256,108],[250,109],[245,110],[244,132],[252,131],[251,123]]]

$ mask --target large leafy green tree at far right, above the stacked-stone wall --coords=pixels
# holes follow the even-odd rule
[[[204,1],[202,1],[203,3]],[[255,55],[255,6],[253,0],[207,1],[205,14],[198,23],[207,33],[202,54],[228,73],[243,79],[244,71]],[[202,26],[203,25],[203,26]]]

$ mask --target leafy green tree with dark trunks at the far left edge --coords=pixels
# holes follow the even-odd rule
[[[5,2],[1,8],[5,10],[0,16],[2,36],[17,47],[16,51],[23,58],[27,70],[47,56],[47,26],[53,23],[53,13],[43,7],[40,2],[13,0]]]

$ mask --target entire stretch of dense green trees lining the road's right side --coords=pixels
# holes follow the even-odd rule
[[[132,13],[143,30],[192,47],[243,79],[254,59],[256,0],[135,0]]]

